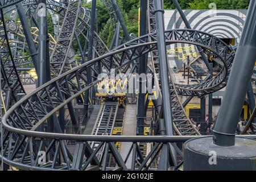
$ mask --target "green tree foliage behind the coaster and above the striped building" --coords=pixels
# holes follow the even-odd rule
[[[138,36],[138,10],[140,0],[116,0],[119,9],[122,11],[123,19],[129,33]],[[146,1],[146,0],[144,0]],[[247,9],[250,0],[179,0],[182,9],[210,9],[210,3],[216,3],[217,9]],[[91,2],[84,2],[84,7],[90,9]],[[164,9],[175,9],[172,0],[164,0]],[[97,1],[98,30],[101,39],[110,45],[112,41],[112,23],[109,12],[104,3]],[[120,34],[122,36],[122,28]]]

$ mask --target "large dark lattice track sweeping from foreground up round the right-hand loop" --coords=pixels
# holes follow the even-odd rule
[[[225,86],[234,53],[232,49],[220,39],[200,31],[168,30],[166,31],[166,43],[187,43],[201,46],[205,50],[214,53],[217,57],[216,62],[220,65],[220,73],[216,77],[200,84],[187,86],[173,84],[171,82],[170,86],[176,86],[174,91],[177,90],[177,92],[175,91],[176,93],[172,93],[172,95],[176,97],[177,93],[181,93],[182,91],[183,95],[199,93],[202,96],[215,92],[217,89]],[[3,150],[2,157],[4,161],[20,169],[106,169],[108,168],[106,158],[99,160],[97,157],[98,154],[100,154],[99,152],[103,149],[113,155],[118,166],[110,169],[126,170],[127,167],[125,163],[129,155],[132,155],[133,161],[135,161],[137,155],[139,156],[139,163],[135,165],[134,162],[131,169],[152,169],[151,164],[156,156],[158,156],[159,152],[161,152],[163,144],[167,143],[168,147],[171,147],[171,140],[158,140],[157,138],[147,140],[147,142],[155,142],[155,145],[144,158],[140,154],[137,144],[137,142],[143,142],[142,137],[126,139],[125,137],[121,137],[118,139],[117,137],[110,136],[98,137],[48,133],[47,127],[44,130],[45,132],[39,132],[37,129],[39,126],[42,126],[43,123],[49,121],[51,115],[58,115],[57,113],[61,107],[76,100],[77,97],[81,97],[81,94],[84,93],[85,90],[100,81],[97,80],[92,83],[86,81],[87,67],[95,67],[98,61],[101,61],[102,65],[106,65],[108,68],[112,65],[111,68],[115,68],[116,72],[119,69],[121,69],[122,72],[126,72],[133,60],[146,53],[155,51],[156,48],[156,35],[154,33],[135,38],[108,53],[102,51],[103,53],[100,57],[53,78],[53,80],[22,98],[22,100],[11,107],[3,117],[3,148],[0,149]],[[115,60],[116,63],[112,64],[113,57],[117,55],[120,55],[120,59]],[[177,110],[177,112],[180,111]],[[189,131],[186,130],[187,129],[180,126],[178,131],[184,132],[184,135],[185,133],[190,134]],[[82,152],[79,153],[80,155],[72,155],[67,147],[67,140],[84,143],[85,147],[82,147]],[[92,148],[89,141],[98,142],[98,146]],[[114,144],[114,142],[117,141],[133,143],[130,148],[130,151],[133,150],[133,152],[132,154],[129,152],[125,160],[121,158]],[[175,149],[182,156],[179,149]],[[39,151],[46,153],[46,163],[39,163]],[[79,163],[77,163],[78,158],[80,159]],[[86,158],[86,160],[83,160],[84,158]],[[175,164],[175,167],[178,168],[179,164]]]

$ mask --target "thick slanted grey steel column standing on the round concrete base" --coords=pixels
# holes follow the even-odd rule
[[[234,146],[235,144],[237,123],[256,60],[255,19],[256,1],[250,1],[245,26],[226,86],[226,94],[223,98],[213,130],[213,142],[218,146]]]

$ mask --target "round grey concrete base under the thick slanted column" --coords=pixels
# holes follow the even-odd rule
[[[184,143],[185,171],[256,170],[256,140],[236,137],[230,147],[217,146],[212,137]]]

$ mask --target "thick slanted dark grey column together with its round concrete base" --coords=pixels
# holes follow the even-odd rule
[[[256,141],[235,137],[256,60],[255,19],[256,1],[250,1],[213,138],[185,142],[185,170],[256,170]]]

